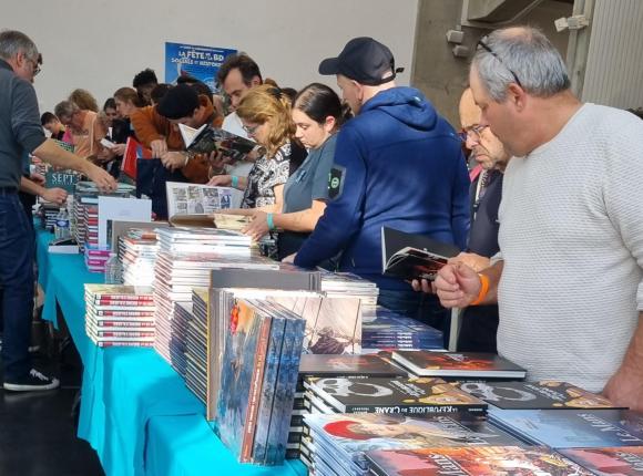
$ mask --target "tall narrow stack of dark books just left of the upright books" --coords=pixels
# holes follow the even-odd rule
[[[185,384],[198,400],[207,404],[207,291],[194,290],[192,319],[185,332]],[[181,304],[180,304],[181,306]]]

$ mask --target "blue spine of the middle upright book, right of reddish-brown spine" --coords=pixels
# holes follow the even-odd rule
[[[256,464],[263,464],[266,457],[266,442],[268,438],[268,427],[273,413],[273,402],[275,400],[277,370],[279,368],[282,345],[284,344],[284,318],[273,317],[271,344],[266,358],[266,370],[264,372],[264,383],[262,385],[257,427],[255,431],[255,441],[252,452],[252,462]]]

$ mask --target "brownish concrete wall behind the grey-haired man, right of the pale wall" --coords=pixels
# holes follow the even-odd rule
[[[461,0],[420,0],[416,29],[415,64],[411,83],[421,90],[455,127],[459,127],[458,102],[468,85],[470,58],[455,58],[447,43],[448,30],[460,23]],[[531,11],[518,24],[541,28],[565,58],[569,34],[557,33],[553,21],[569,17],[571,3],[549,0]],[[462,27],[465,42],[473,51],[488,29]]]

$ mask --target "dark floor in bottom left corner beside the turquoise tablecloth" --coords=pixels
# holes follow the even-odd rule
[[[74,360],[67,354],[68,362]],[[59,390],[35,393],[6,392],[0,387],[0,475],[103,475],[95,452],[75,436],[71,410],[80,369],[43,358],[35,362],[40,369],[60,375],[62,385]]]

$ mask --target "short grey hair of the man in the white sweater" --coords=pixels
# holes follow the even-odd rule
[[[492,53],[479,48],[471,66],[493,101],[503,101],[507,87],[517,79],[525,92],[538,97],[550,97],[570,87],[562,56],[539,29],[496,30],[481,41]]]

